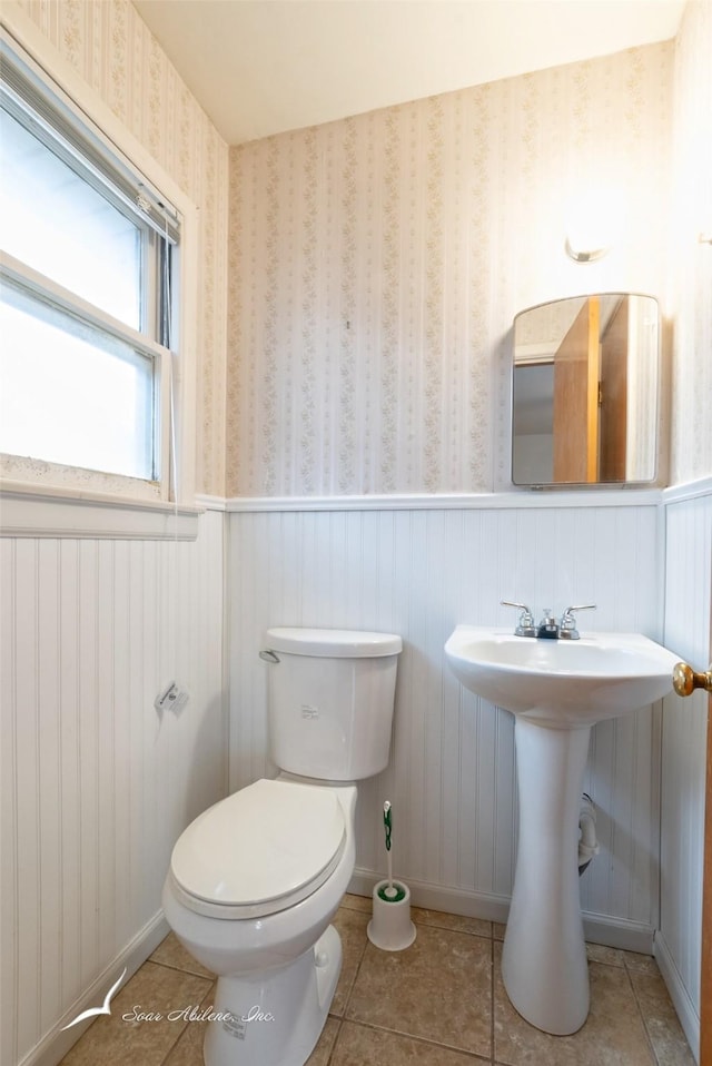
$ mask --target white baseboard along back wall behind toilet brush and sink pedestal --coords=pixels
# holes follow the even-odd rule
[[[356,896],[369,897],[374,885],[383,877],[382,872],[356,869],[350,879],[348,891]],[[408,878],[411,900],[414,907],[428,910],[444,910],[449,915],[463,915],[466,918],[482,918],[485,921],[505,924],[510,912],[510,897],[494,896],[487,892],[467,892],[457,888],[446,888]],[[652,926],[606,915],[591,915],[584,911],[583,928],[586,940],[603,944],[622,951],[637,951],[640,955],[653,954],[654,929]]]

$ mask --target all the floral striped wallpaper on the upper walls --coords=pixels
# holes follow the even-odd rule
[[[674,42],[231,149],[128,0],[18,2],[199,207],[201,491],[498,487],[514,316],[606,288],[659,297],[672,480],[709,474],[711,0]],[[617,239],[574,264],[601,187]]]

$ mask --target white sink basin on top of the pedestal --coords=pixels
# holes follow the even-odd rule
[[[451,669],[472,692],[513,714],[592,726],[662,699],[676,655],[639,633],[536,640],[458,625],[445,644]]]

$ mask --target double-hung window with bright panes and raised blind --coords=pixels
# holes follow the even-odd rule
[[[177,214],[4,40],[0,103],[0,453],[167,499]]]

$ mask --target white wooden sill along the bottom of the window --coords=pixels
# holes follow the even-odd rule
[[[10,482],[0,486],[1,536],[195,541],[202,511],[157,500],[134,501]]]

